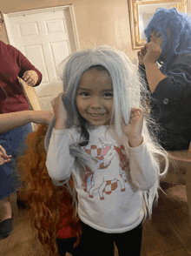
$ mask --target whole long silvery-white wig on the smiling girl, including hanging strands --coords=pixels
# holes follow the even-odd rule
[[[79,123],[82,118],[79,118],[80,114],[77,111],[76,91],[82,74],[93,66],[104,67],[111,77],[114,92],[113,105],[115,129],[119,136],[122,136],[122,118],[127,125],[129,123],[132,107],[141,107],[143,111],[145,111],[145,106],[142,104],[145,102],[145,98],[142,98],[141,100],[141,95],[143,97],[143,95],[148,95],[148,93],[141,93],[146,90],[145,86],[142,86],[141,78],[138,77],[134,65],[122,51],[118,51],[107,45],[98,46],[93,49],[70,54],[62,65],[63,91],[65,91],[63,104],[68,111],[68,128],[76,125],[81,127],[81,124]],[[147,116],[146,111],[145,113]],[[145,217],[151,215],[153,202],[158,198],[157,190],[159,187],[160,176],[163,176],[168,170],[167,153],[161,149],[160,145],[158,145],[152,137],[151,132],[148,131],[149,120],[146,119],[148,118],[145,118],[144,120],[142,136],[145,143],[147,143],[153,161],[155,162],[158,179],[155,181],[155,186],[153,188],[149,191],[142,192]],[[53,119],[49,125],[49,130],[45,138],[46,149],[48,149],[49,146],[49,138],[54,124],[55,120]],[[77,158],[77,163],[81,162],[83,165],[89,165],[89,156],[85,152],[82,152],[82,149],[79,146],[71,145],[70,154]],[[166,167],[162,173],[160,173],[160,165],[157,155],[161,155],[166,161]]]

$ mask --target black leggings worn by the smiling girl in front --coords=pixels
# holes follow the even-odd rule
[[[72,255],[114,256],[114,242],[119,256],[140,256],[142,223],[135,229],[122,233],[100,232],[82,223],[82,238],[79,246],[72,250]],[[64,254],[60,255],[63,256]]]

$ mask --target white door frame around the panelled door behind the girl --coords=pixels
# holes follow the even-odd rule
[[[74,7],[72,4],[51,7],[51,8],[36,9],[36,10],[23,10],[23,11],[12,12],[12,13],[7,13],[7,14],[3,13],[4,25],[5,25],[5,29],[7,32],[9,44],[15,46],[14,37],[12,37],[11,32],[10,32],[11,31],[10,17],[24,16],[24,15],[28,15],[28,14],[36,14],[39,12],[48,12],[48,11],[56,11],[56,10],[63,10],[65,13],[67,30],[68,30],[68,34],[69,34],[69,42],[71,45],[71,52],[79,51],[80,44],[79,44],[79,39],[77,36]]]

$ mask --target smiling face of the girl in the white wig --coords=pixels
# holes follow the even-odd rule
[[[108,71],[89,69],[82,74],[76,104],[91,125],[109,125],[113,111],[113,86]]]

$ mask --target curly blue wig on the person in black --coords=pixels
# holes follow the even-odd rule
[[[162,53],[158,62],[163,62],[161,71],[165,73],[172,57],[191,52],[191,17],[178,12],[176,8],[159,8],[144,30],[148,42],[152,30],[159,31],[163,37]]]

